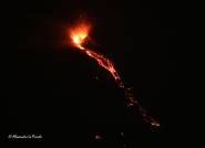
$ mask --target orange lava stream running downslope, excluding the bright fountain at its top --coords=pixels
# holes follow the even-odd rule
[[[114,65],[111,62],[111,60],[105,59],[102,54],[98,54],[96,52],[93,52],[93,51],[90,51],[90,50],[86,50],[86,49],[84,49],[84,50],[85,50],[85,53],[89,56],[95,59],[102,67],[106,68],[113,75],[113,77],[115,78],[115,82],[119,84],[120,88],[123,89],[126,98],[130,102],[127,106],[129,107],[130,106],[139,107],[140,113],[143,116],[145,121],[150,123],[153,126],[160,126],[160,124],[156,120],[154,120],[151,116],[146,115],[146,110],[136,102],[134,96],[130,93],[129,88],[126,88],[124,86],[124,84],[122,82],[122,78],[120,77],[116,70],[114,68]]]

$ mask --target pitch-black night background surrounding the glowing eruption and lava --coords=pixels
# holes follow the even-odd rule
[[[125,141],[124,131],[127,147],[195,142],[185,127],[193,67],[187,10],[185,4],[148,1],[4,4],[1,137],[35,134],[115,147]],[[126,107],[123,92],[95,60],[63,45],[65,27],[80,12],[95,19],[90,36],[99,45],[92,50],[112,60],[161,127],[145,124],[137,108]],[[98,142],[94,135],[103,139]]]

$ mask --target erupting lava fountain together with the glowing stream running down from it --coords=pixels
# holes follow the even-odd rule
[[[146,115],[146,110],[136,102],[134,96],[130,93],[130,89],[124,86],[122,78],[114,68],[114,65],[111,62],[111,60],[104,57],[102,54],[99,54],[82,46],[84,39],[88,38],[91,28],[92,28],[91,23],[89,23],[85,19],[82,19],[75,28],[71,29],[70,36],[73,40],[73,45],[83,50],[89,56],[95,59],[102,67],[107,70],[113,75],[115,82],[119,84],[120,88],[123,89],[126,98],[130,102],[127,105],[129,107],[130,106],[139,107],[140,113],[145,121],[150,123],[153,126],[160,126],[160,124],[156,120],[154,120],[151,116]]]

